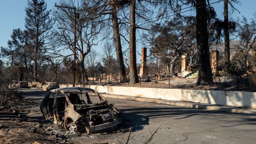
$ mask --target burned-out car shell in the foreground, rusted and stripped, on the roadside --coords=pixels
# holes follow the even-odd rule
[[[122,122],[119,110],[91,88],[51,90],[42,100],[40,109],[46,120],[73,132],[111,130]]]

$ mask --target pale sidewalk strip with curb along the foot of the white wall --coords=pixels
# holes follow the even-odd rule
[[[172,106],[181,106],[187,108],[198,108],[204,110],[214,110],[219,112],[228,112],[232,114],[240,114],[245,116],[256,116],[256,109],[245,109],[245,108],[237,108],[231,106],[219,106],[216,104],[201,104],[201,103],[191,103],[191,102],[181,102],[181,101],[172,101],[172,100],[160,100],[153,98],[140,98],[134,96],[120,96],[114,94],[102,94],[104,97],[108,98],[119,98],[125,100],[136,100],[141,102],[153,102],[158,104],[168,104]]]

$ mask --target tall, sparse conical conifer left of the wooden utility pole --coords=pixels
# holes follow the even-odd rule
[[[51,32],[54,21],[49,17],[50,12],[46,10],[44,0],[29,0],[25,8],[26,11],[26,36],[28,53],[26,56],[34,62],[33,79],[38,80],[38,64],[44,63],[49,57],[51,42],[53,40]]]

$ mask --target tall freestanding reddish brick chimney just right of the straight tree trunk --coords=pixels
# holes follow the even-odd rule
[[[140,77],[146,78],[148,76],[148,67],[147,67],[147,48],[141,48],[141,67],[140,67]]]

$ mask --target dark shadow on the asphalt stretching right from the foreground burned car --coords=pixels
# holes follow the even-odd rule
[[[123,108],[120,109],[122,112],[124,128],[132,127],[132,132],[144,129],[145,125],[149,125],[151,118],[170,118],[176,117],[175,119],[190,118],[196,115],[211,115],[211,114],[222,114],[222,112],[215,112],[210,110],[197,110],[190,108]]]

